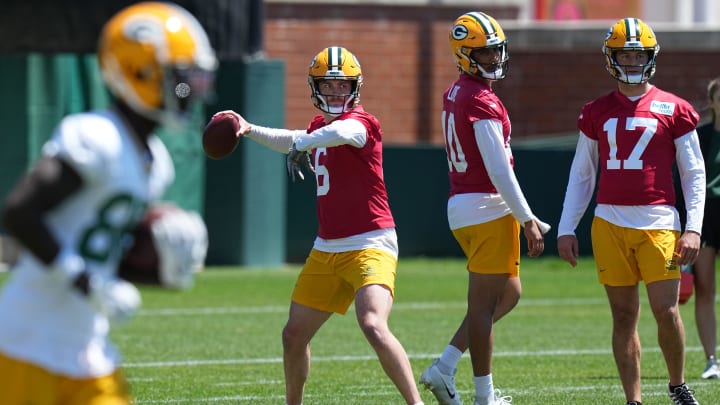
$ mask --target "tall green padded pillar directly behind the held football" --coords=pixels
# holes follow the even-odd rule
[[[208,111],[232,109],[252,123],[284,125],[285,65],[223,62]],[[208,263],[277,266],[285,262],[285,155],[242,139],[229,157],[206,160]]]

